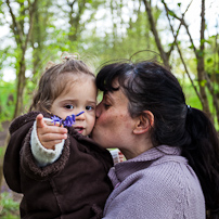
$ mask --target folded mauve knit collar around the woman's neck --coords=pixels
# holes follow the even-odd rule
[[[111,178],[113,185],[116,186],[131,173],[147,168],[152,163],[154,165],[154,162],[158,160],[160,157],[168,156],[175,157],[176,159],[176,156],[180,157],[180,154],[181,150],[179,147],[167,145],[152,147],[132,159],[116,164],[111,168],[108,177]],[[179,159],[186,162],[183,157],[180,157]]]

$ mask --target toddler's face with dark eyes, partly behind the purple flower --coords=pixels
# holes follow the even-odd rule
[[[65,119],[83,111],[83,114],[76,117],[73,127],[82,136],[88,136],[95,123],[96,87],[93,78],[88,75],[69,76],[69,83],[70,80],[73,85],[68,88],[68,92],[61,93],[54,100],[51,113]]]

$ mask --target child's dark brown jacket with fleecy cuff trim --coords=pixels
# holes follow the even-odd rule
[[[102,218],[113,189],[107,177],[113,166],[110,152],[70,127],[61,157],[51,165],[38,167],[29,144],[38,114],[30,112],[12,121],[4,155],[7,183],[11,190],[24,194],[21,218]]]

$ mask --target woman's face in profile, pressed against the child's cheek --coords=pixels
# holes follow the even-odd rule
[[[96,106],[92,139],[105,149],[128,149],[132,145],[134,119],[128,112],[128,99],[119,89],[104,93]]]

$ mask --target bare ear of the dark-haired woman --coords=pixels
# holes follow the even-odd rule
[[[154,115],[151,111],[144,111],[136,123],[133,133],[141,134],[147,132],[154,126]]]

